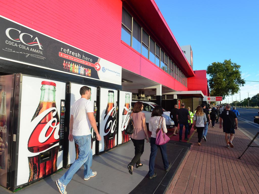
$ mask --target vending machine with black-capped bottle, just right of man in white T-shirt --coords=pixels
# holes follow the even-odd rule
[[[96,143],[96,154],[100,154],[117,146],[118,91],[98,87],[97,105],[98,131],[102,140]]]

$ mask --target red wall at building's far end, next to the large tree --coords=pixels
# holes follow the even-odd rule
[[[201,90],[206,96],[207,94],[207,74],[206,70],[196,70],[194,71],[195,76],[189,77],[187,81],[188,91]]]

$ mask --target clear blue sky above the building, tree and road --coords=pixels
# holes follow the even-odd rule
[[[155,0],[178,44],[191,44],[193,70],[231,59],[242,78],[259,81],[259,1]],[[259,93],[259,82],[240,88],[241,100]],[[233,101],[239,100],[233,96]],[[226,97],[229,102],[231,97]]]

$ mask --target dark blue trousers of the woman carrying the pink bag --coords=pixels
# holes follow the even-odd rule
[[[160,145],[160,146],[156,145],[156,138],[151,137],[150,138],[150,146],[151,146],[151,153],[150,153],[150,157],[149,157],[148,176],[153,176],[154,170],[155,170],[156,153],[157,153],[158,148],[161,151],[164,169],[167,169],[169,167],[169,162],[168,162],[168,159],[167,159],[166,144]]]

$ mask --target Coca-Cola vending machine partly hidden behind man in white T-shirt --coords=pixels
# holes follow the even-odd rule
[[[66,122],[65,122],[65,136],[64,136],[65,143],[64,143],[64,155],[63,155],[63,167],[65,168],[68,168],[78,158],[78,154],[79,154],[78,145],[75,144],[74,141],[72,142],[69,141],[68,135],[69,135],[69,120],[70,120],[71,108],[75,103],[75,101],[81,98],[79,91],[80,91],[80,88],[83,86],[88,86],[91,89],[90,101],[92,102],[92,105],[94,108],[94,116],[96,118],[97,87],[68,82],[66,100],[67,102],[70,102],[70,103],[67,103],[67,106],[66,106],[67,112],[66,112]],[[95,135],[95,132],[93,131],[93,128],[91,128],[91,133],[92,133],[92,152],[93,152],[93,155],[95,155],[96,135]]]

